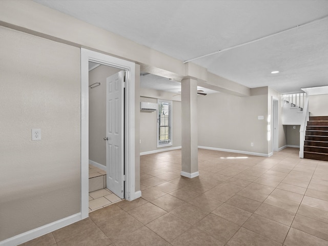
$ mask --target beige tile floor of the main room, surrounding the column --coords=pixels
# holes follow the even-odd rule
[[[189,179],[180,159],[141,156],[141,198],[23,245],[328,245],[328,162],[293,148],[269,158],[200,149]]]

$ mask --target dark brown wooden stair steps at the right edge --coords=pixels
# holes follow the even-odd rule
[[[328,116],[310,116],[305,131],[304,158],[328,161]]]

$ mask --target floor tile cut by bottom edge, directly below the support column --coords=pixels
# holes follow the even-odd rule
[[[223,246],[224,243],[207,235],[206,233],[191,228],[172,242],[173,246]]]

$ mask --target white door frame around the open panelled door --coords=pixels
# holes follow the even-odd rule
[[[135,191],[135,63],[81,48],[81,219],[89,216],[89,61],[126,71],[124,195],[127,200],[139,197]]]

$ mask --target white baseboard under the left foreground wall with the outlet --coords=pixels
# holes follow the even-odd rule
[[[35,228],[31,231],[24,232],[22,234],[18,234],[11,238],[8,238],[4,241],[0,242],[0,246],[8,246],[8,245],[18,245],[24,242],[30,241],[34,238],[46,235],[47,233],[53,232],[60,228],[66,227],[69,224],[75,223],[81,220],[81,213],[73,214],[69,217],[59,219],[52,223],[46,224],[45,226]]]

